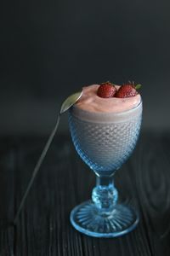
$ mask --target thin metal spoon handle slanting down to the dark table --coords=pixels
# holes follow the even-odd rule
[[[22,210],[22,207],[24,206],[24,203],[26,201],[26,197],[27,197],[27,195],[28,195],[28,193],[29,193],[29,191],[31,189],[31,185],[34,182],[34,179],[35,179],[35,177],[37,175],[37,172],[39,171],[39,169],[40,169],[40,167],[42,165],[42,161],[44,160],[44,158],[45,158],[45,156],[46,156],[46,154],[48,152],[48,148],[49,148],[50,144],[52,143],[52,141],[54,139],[54,135],[55,135],[55,133],[57,131],[57,128],[59,126],[59,119],[60,119],[60,114],[58,115],[57,122],[56,122],[56,124],[54,126],[54,130],[51,132],[50,136],[48,137],[48,142],[46,143],[45,147],[43,148],[42,154],[40,155],[39,160],[37,161],[37,165],[35,166],[34,171],[32,172],[31,180],[30,180],[30,182],[27,185],[26,192],[23,195],[22,200],[20,201],[20,207],[18,208],[18,211],[15,214],[14,224],[17,223],[17,220],[19,218],[19,215],[20,215],[20,212]]]

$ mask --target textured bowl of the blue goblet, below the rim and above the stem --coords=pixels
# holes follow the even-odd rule
[[[122,122],[94,123],[69,115],[77,153],[95,172],[111,172],[122,166],[139,137],[141,113]]]

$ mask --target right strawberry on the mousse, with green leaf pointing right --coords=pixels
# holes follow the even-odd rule
[[[141,87],[141,84],[134,85],[134,83],[123,84],[119,90],[116,91],[117,98],[128,98],[133,97],[138,94],[138,89]]]

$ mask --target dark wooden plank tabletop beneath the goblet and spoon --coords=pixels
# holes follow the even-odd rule
[[[71,227],[71,209],[91,196],[95,176],[65,136],[55,138],[18,224],[10,225],[46,139],[0,141],[0,255],[170,255],[170,134],[143,131],[116,173],[120,201],[139,210],[140,222],[112,239],[88,237]]]

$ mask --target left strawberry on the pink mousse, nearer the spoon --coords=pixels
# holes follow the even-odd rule
[[[111,84],[111,82],[105,82],[100,84],[97,95],[101,98],[111,98],[115,96],[116,94],[116,87],[114,84]]]

